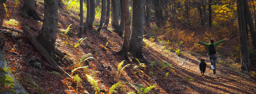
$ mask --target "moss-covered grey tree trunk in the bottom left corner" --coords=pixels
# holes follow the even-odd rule
[[[0,38],[0,88],[3,89],[0,94],[27,94],[24,87],[15,79],[6,63],[4,54],[5,40],[5,38]],[[11,88],[6,89],[4,86],[10,86]]]

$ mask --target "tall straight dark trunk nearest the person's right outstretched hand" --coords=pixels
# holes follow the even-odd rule
[[[241,68],[248,71],[250,69],[250,59],[248,50],[248,41],[246,34],[246,23],[243,0],[236,0],[237,12],[238,12],[238,28],[239,28],[239,40],[240,40],[240,56],[241,56]]]

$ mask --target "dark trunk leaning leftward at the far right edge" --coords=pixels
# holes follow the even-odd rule
[[[247,22],[248,22],[248,25],[249,25],[249,30],[251,32],[252,46],[253,46],[254,49],[256,49],[256,32],[254,31],[254,24],[253,24],[253,20],[251,19],[251,12],[249,10],[247,0],[243,0],[243,2],[244,2],[244,9],[245,9]]]

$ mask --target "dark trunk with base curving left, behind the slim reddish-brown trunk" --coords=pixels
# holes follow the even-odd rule
[[[125,26],[125,18],[124,18],[124,8],[123,8],[123,1],[120,0],[120,6],[121,6],[121,21],[120,25],[118,28],[115,30],[115,32],[120,36],[123,37],[123,32],[124,32],[124,26]]]

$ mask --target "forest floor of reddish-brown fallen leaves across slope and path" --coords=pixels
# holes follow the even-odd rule
[[[42,27],[42,22],[25,19],[20,17],[20,11],[23,1],[13,7],[14,0],[6,2],[7,9],[11,10],[8,13],[4,11],[4,7],[0,4],[0,25],[10,28],[20,29],[21,24],[30,28],[29,32],[36,36]],[[43,3],[38,2],[37,12],[43,14]],[[41,5],[40,5],[41,4]],[[9,17],[8,17],[9,16]],[[40,15],[41,18],[42,15]],[[78,47],[74,47],[80,38],[77,37],[79,31],[79,17],[70,16],[63,7],[59,7],[59,29],[65,30],[70,27],[69,34],[74,37],[68,39],[68,35],[63,35],[58,32],[56,39],[56,48],[64,53],[67,53],[67,58],[72,60],[73,64],[67,63],[60,59],[60,67],[67,73],[71,74],[72,70],[77,67],[87,66],[88,69],[78,69],[72,75],[78,74],[81,77],[80,83],[90,94],[94,93],[94,88],[87,81],[85,74],[91,75],[93,79],[98,80],[97,85],[101,89],[101,93],[108,93],[112,85],[117,82],[122,82],[119,89],[115,89],[118,94],[126,94],[128,92],[137,92],[140,89],[140,84],[143,87],[154,86],[149,94],[255,94],[256,83],[255,79],[248,76],[247,73],[240,71],[237,67],[230,67],[223,64],[223,59],[218,58],[217,73],[212,75],[209,59],[206,55],[196,55],[192,52],[184,52],[182,55],[176,55],[175,50],[168,50],[163,47],[159,41],[145,38],[143,41],[143,55],[150,62],[147,67],[140,66],[140,62],[125,61],[122,66],[129,65],[123,71],[120,71],[120,77],[117,67],[123,58],[116,54],[121,47],[123,38],[116,33],[111,32],[113,29],[102,29],[100,34],[94,31],[87,31],[88,35],[83,35],[82,38],[87,38],[80,43]],[[19,25],[12,26],[5,22],[14,19]],[[96,20],[96,22],[99,20]],[[94,30],[97,26],[94,27]],[[96,36],[97,35],[97,36]],[[50,69],[42,67],[41,70],[33,68],[29,65],[29,59],[44,59],[35,51],[33,46],[26,39],[14,40],[7,38],[5,45],[5,59],[8,62],[14,77],[20,81],[23,87],[30,93],[48,92],[51,94],[62,93],[84,93],[82,88],[76,87],[73,79],[65,76],[58,76]],[[105,49],[105,51],[103,50]],[[15,53],[12,53],[15,52]],[[18,54],[16,54],[18,53]],[[80,62],[88,53],[92,53],[94,59],[85,62]],[[131,56],[130,60],[131,60]],[[199,71],[199,58],[205,59],[207,68],[205,76],[202,76]],[[138,66],[138,68],[134,68]],[[135,87],[128,83],[131,83]],[[136,89],[135,89],[136,88]],[[104,92],[105,91],[105,92]]]

